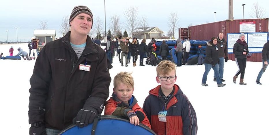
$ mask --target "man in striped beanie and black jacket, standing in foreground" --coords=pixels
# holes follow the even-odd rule
[[[30,135],[58,134],[72,123],[84,127],[101,114],[111,65],[105,51],[87,36],[92,23],[88,7],[74,7],[70,32],[41,50],[30,79]]]

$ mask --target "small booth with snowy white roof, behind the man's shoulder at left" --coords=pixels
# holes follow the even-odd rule
[[[56,30],[34,30],[33,35],[39,39],[39,45],[46,45],[46,43],[55,40]]]

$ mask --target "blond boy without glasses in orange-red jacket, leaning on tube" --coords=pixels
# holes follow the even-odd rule
[[[120,72],[114,77],[114,88],[112,97],[107,101],[104,115],[115,115],[130,120],[135,126],[139,122],[151,129],[143,109],[137,104],[134,93],[134,78],[130,73]]]

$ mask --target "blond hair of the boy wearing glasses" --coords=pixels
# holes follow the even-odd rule
[[[157,76],[159,76],[160,74],[169,74],[169,72],[171,71],[175,71],[175,64],[171,61],[161,61],[158,66],[156,67],[156,72],[157,72]],[[176,71],[175,71],[175,75],[176,75]]]

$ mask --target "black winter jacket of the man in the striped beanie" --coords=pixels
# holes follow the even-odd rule
[[[62,130],[72,124],[85,102],[96,114],[102,113],[111,82],[106,53],[87,36],[78,58],[69,38],[70,32],[47,43],[36,60],[30,79],[29,124],[44,122],[47,128]],[[80,64],[90,65],[90,71],[79,70]]]

